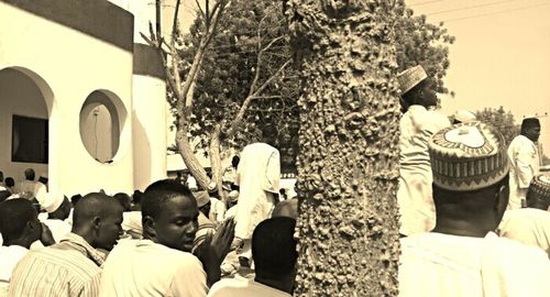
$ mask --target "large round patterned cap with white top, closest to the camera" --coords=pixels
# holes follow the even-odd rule
[[[431,138],[428,151],[433,184],[466,191],[488,187],[509,170],[503,135],[481,123],[459,123]]]

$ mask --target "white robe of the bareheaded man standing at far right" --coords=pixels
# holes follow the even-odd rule
[[[508,146],[510,161],[510,198],[508,209],[521,208],[521,200],[534,176],[539,173],[539,152],[537,145],[524,135],[516,136]]]

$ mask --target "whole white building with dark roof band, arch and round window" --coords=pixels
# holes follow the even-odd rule
[[[164,69],[139,35],[154,1],[111,2],[0,0],[4,176],[31,167],[65,195],[166,176]]]

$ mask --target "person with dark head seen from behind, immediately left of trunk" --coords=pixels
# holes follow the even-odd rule
[[[224,278],[216,283],[208,297],[292,296],[296,277],[296,220],[287,217],[262,221],[252,234],[254,279]]]

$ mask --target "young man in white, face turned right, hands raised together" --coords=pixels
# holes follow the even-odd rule
[[[220,278],[233,240],[224,221],[191,254],[199,210],[190,190],[174,179],[158,180],[142,198],[143,240],[121,242],[106,262],[100,296],[206,296]],[[202,264],[201,264],[202,262]]]

